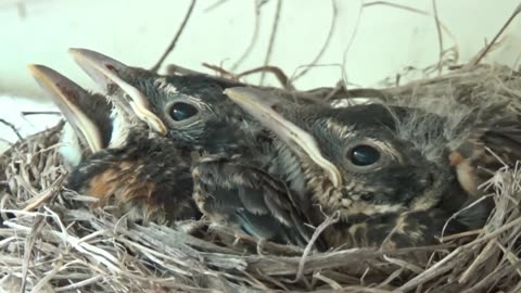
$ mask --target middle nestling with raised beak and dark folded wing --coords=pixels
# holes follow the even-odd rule
[[[242,84],[204,75],[160,76],[93,51],[71,52],[112,99],[127,99],[151,129],[201,157],[192,163],[194,199],[209,218],[262,239],[305,243],[306,216],[294,208],[284,183],[263,170],[271,158],[264,153],[270,150],[271,138],[223,93]],[[291,94],[267,91],[274,103],[301,102]],[[236,202],[244,202],[243,208],[230,209]]]

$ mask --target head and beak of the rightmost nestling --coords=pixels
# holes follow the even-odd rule
[[[251,88],[225,91],[277,138],[290,187],[345,217],[435,206],[454,181],[443,118],[380,104],[270,104]]]

